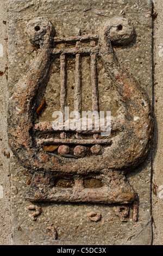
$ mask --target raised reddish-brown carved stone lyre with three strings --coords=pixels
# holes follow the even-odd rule
[[[72,38],[55,36],[53,25],[43,17],[28,23],[30,42],[39,45],[39,53],[29,67],[27,74],[14,87],[9,99],[8,136],[10,147],[24,167],[33,174],[27,187],[27,200],[39,202],[84,202],[117,203],[135,202],[137,194],[126,180],[125,173],[138,166],[148,154],[152,136],[152,113],[147,95],[139,83],[118,62],[113,45],[128,45],[133,41],[135,31],[124,18],[108,21],[99,35],[77,35]],[[74,47],[56,47],[63,42],[73,42]],[[87,42],[83,47],[82,42]],[[81,44],[80,44],[81,43]],[[89,46],[88,46],[89,45]],[[71,137],[61,130],[55,136],[52,122],[34,123],[36,97],[39,88],[45,86],[54,56],[60,58],[60,109],[66,106],[66,57],[76,59],[76,83],[74,88],[74,109],[81,109],[81,58],[90,56],[92,111],[99,111],[97,56],[102,59],[105,71],[110,76],[122,103],[122,111],[111,120],[112,136],[99,138],[101,131],[72,131]],[[55,85],[54,85],[55,87]],[[100,96],[100,95],[99,95]],[[107,106],[106,106],[107,109]],[[109,109],[107,109],[109,110]],[[40,134],[51,133],[51,138],[39,138]],[[92,154],[67,157],[58,150],[43,151],[45,145],[67,145],[90,149]],[[80,150],[81,149],[81,150]],[[57,179],[71,180],[70,187],[56,186]],[[96,179],[100,186],[85,186],[87,179]]]

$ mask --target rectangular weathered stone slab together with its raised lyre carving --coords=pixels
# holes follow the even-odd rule
[[[10,2],[15,244],[151,244],[151,13],[151,1]]]

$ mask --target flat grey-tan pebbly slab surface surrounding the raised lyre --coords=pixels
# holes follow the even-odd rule
[[[54,25],[58,36],[74,36],[79,29],[82,35],[96,34],[103,22],[113,17],[125,16],[133,22],[136,40],[129,46],[115,47],[115,52],[118,60],[136,77],[152,102],[151,12],[151,1],[140,1],[139,4],[135,1],[82,1],[82,4],[74,0],[11,1],[8,6],[9,92],[26,74],[37,54],[26,33],[26,25],[33,18],[47,17]],[[87,59],[84,61],[86,66]],[[56,70],[53,71],[55,74]],[[85,74],[87,77],[87,70]],[[69,76],[71,82],[71,72]],[[41,115],[41,121],[51,118],[55,99],[52,86],[57,80],[57,75],[49,80],[45,92],[48,108]],[[115,102],[118,102],[118,99],[112,92],[111,81],[109,83],[109,92],[112,96],[110,109],[116,115],[119,108],[115,106]],[[85,90],[89,94],[87,88]],[[133,220],[132,205],[130,205],[128,221],[121,222],[115,215],[115,205],[47,202],[34,204],[41,209],[41,214],[34,221],[32,210],[28,210],[28,206],[33,203],[24,199],[24,191],[31,176],[12,154],[10,154],[10,169],[15,245],[151,245],[151,154],[143,164],[126,174],[127,180],[139,196],[139,220],[136,222]],[[99,222],[91,222],[87,217],[92,211],[101,213],[102,218]],[[53,232],[48,229],[49,226],[56,228],[57,240],[54,239]]]

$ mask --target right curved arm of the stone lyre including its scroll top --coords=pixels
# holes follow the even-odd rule
[[[126,122],[121,136],[114,139],[112,147],[105,149],[103,159],[109,156],[111,161],[114,156],[114,168],[126,170],[132,170],[145,159],[152,136],[152,112],[148,96],[133,75],[118,62],[112,47],[112,44],[129,44],[134,36],[133,25],[124,18],[111,20],[99,35],[99,54],[123,102]]]

